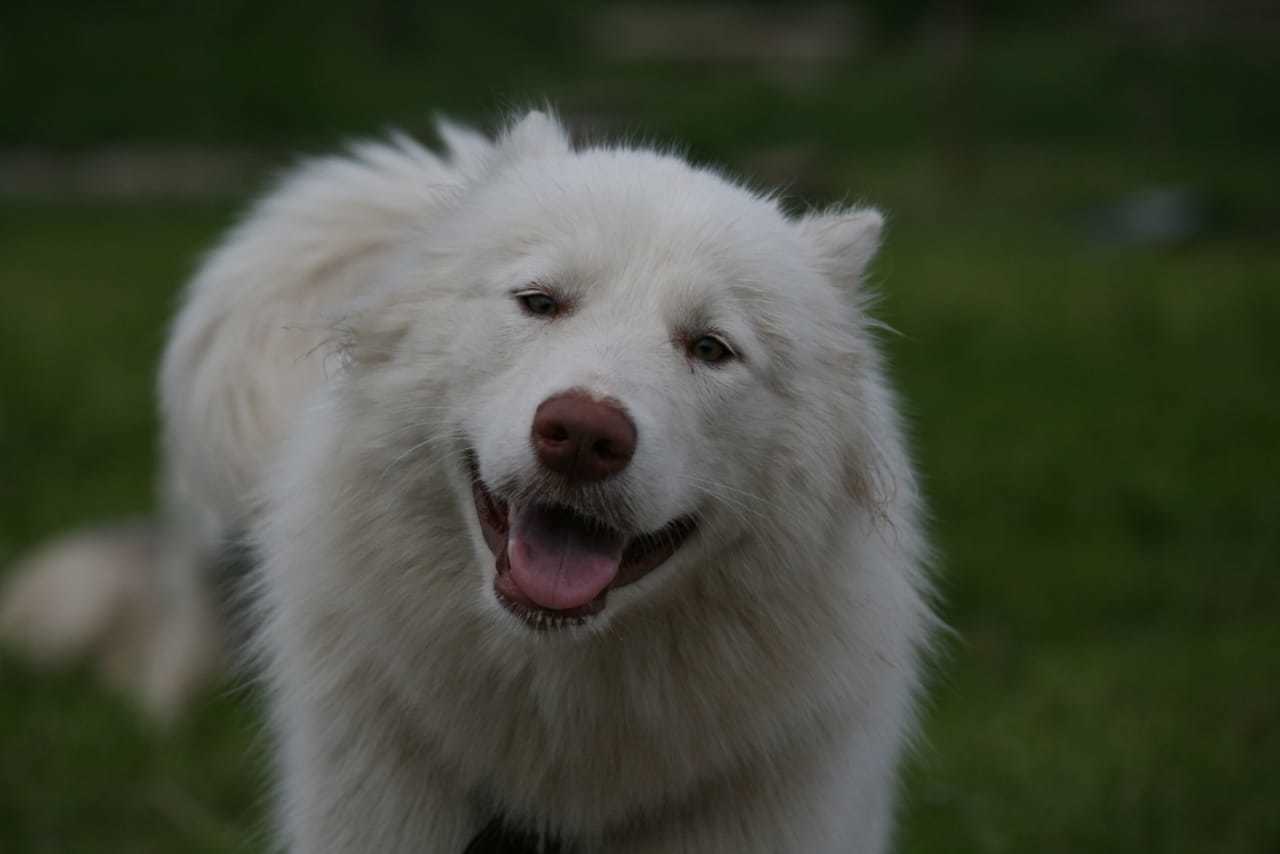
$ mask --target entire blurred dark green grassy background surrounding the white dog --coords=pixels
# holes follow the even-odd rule
[[[1025,4],[1023,4],[1025,5]],[[0,6],[0,565],[151,503],[175,292],[297,152],[547,99],[861,198],[956,629],[904,851],[1280,851],[1270,4]],[[172,732],[0,659],[0,851],[264,849],[228,686]]]

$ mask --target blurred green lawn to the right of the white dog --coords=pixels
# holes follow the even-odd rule
[[[884,283],[960,631],[908,850],[1274,850],[1280,257],[957,229]]]

